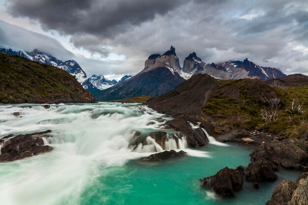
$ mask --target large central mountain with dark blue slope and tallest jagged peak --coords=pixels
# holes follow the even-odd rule
[[[181,66],[175,48],[163,55],[151,55],[145,61],[145,68],[133,77],[128,77],[117,85],[92,92],[98,100],[118,100],[138,95],[158,96],[168,92],[185,81],[179,75]],[[122,81],[122,79],[120,80]]]

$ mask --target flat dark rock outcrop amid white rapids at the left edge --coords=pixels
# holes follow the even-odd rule
[[[51,137],[51,130],[33,134],[17,135],[4,141],[1,147],[0,162],[14,161],[31,157],[52,150],[51,146],[44,146],[44,138]]]

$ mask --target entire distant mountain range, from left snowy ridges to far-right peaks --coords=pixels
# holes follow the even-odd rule
[[[205,63],[195,52],[184,59],[182,68],[173,46],[162,55],[150,55],[141,72],[133,77],[125,75],[120,81],[108,80],[102,75],[87,77],[85,71],[75,60],[63,62],[37,49],[24,52],[11,48],[0,48],[0,52],[62,68],[75,76],[83,88],[91,91],[94,97],[101,101],[119,100],[138,95],[158,96],[176,88],[180,83],[197,74],[208,74],[221,80],[250,78],[262,81],[286,76],[276,68],[262,67],[248,59]]]

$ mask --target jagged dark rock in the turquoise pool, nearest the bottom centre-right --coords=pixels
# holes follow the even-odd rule
[[[201,186],[211,187],[219,196],[234,196],[234,192],[243,187],[243,171],[242,166],[236,169],[225,167],[214,176],[200,179]]]

